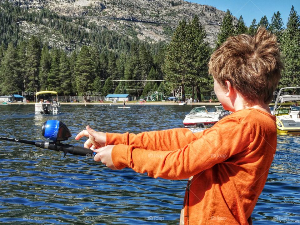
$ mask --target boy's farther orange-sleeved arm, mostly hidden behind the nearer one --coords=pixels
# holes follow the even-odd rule
[[[201,137],[202,132],[192,133],[187,128],[133,133],[106,133],[105,145],[134,145],[136,148],[152,150],[175,150]]]

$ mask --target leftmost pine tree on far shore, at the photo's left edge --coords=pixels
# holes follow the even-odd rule
[[[1,64],[0,90],[2,95],[20,93],[22,90],[22,78],[18,73],[19,62],[16,48],[12,43],[4,53]]]

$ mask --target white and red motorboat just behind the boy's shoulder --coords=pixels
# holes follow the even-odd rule
[[[229,115],[229,111],[224,110],[223,106],[215,106],[215,112],[208,112],[205,106],[193,108],[183,120],[185,127],[212,127],[223,117]]]

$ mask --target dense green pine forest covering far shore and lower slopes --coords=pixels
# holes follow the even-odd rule
[[[285,69],[279,87],[299,86],[300,21],[293,7],[286,27],[279,11],[270,22],[264,16],[259,22],[253,19],[246,27],[242,16],[234,24],[227,10],[215,48],[205,41],[206,32],[197,15],[192,20],[179,21],[169,43],[148,43],[108,29],[100,32],[84,19],[70,23],[70,19],[47,9],[29,11],[2,2],[0,13],[1,95],[21,94],[33,99],[34,93],[47,89],[66,97],[127,93],[144,98],[155,91],[168,97],[174,88],[182,86],[186,98],[213,98],[213,81],[207,72],[210,55],[227,37],[254,35],[259,26],[274,33],[280,43]],[[20,21],[63,33],[64,41],[76,47],[53,47],[35,35],[24,38],[18,27]]]

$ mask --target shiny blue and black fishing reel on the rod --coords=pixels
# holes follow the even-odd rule
[[[72,134],[66,124],[58,120],[48,120],[42,126],[42,135],[54,142],[68,140]]]

